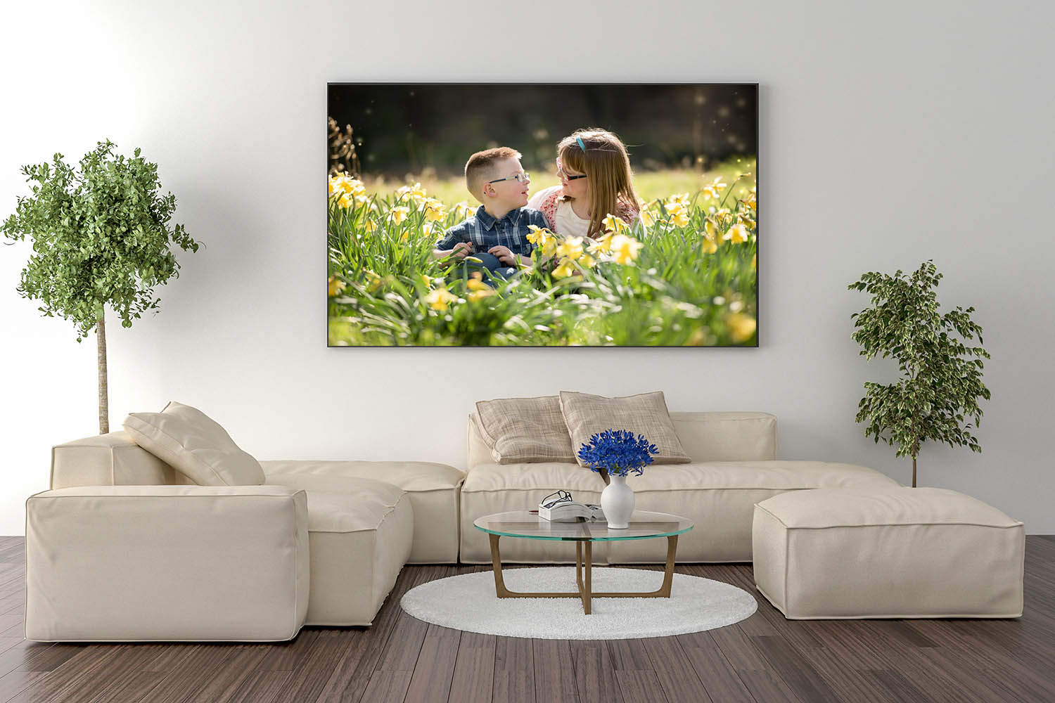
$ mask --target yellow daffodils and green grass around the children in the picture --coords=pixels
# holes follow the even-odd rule
[[[642,203],[637,222],[609,216],[597,240],[533,229],[532,266],[487,281],[433,257],[475,206],[330,176],[329,344],[754,345],[755,188],[730,181]]]

